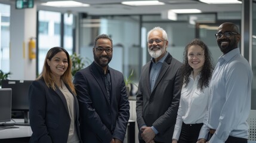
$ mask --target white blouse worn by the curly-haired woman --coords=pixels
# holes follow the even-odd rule
[[[209,88],[203,88],[202,91],[198,88],[199,77],[200,74],[194,80],[193,73],[190,74],[188,85],[186,87],[183,85],[181,89],[180,105],[172,139],[178,140],[180,137],[183,122],[185,124],[203,123],[209,97],[206,93]]]

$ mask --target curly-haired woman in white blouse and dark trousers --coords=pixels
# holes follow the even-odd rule
[[[213,69],[208,46],[194,39],[184,49],[183,61],[183,85],[172,143],[195,143],[207,110],[206,92]]]

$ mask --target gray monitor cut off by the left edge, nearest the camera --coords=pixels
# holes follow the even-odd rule
[[[11,121],[11,88],[0,88],[0,122]]]

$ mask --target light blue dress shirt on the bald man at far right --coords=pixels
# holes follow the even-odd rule
[[[248,138],[251,110],[252,69],[239,48],[218,58],[209,86],[208,113],[199,139],[207,139],[209,129],[216,129],[210,143],[224,143],[229,136]]]

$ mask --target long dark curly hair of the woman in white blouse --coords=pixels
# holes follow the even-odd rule
[[[189,84],[189,80],[190,80],[189,76],[190,76],[191,72],[193,71],[192,67],[189,66],[189,59],[187,57],[188,48],[192,45],[201,46],[201,48],[203,49],[203,53],[204,53],[203,55],[205,58],[205,63],[203,64],[203,67],[201,70],[201,76],[198,80],[198,88],[200,88],[202,90],[203,88],[206,88],[209,86],[209,82],[210,82],[211,76],[212,76],[213,66],[212,66],[211,52],[209,51],[208,46],[205,43],[203,43],[200,39],[193,39],[193,41],[188,43],[187,46],[185,47],[184,53],[183,53],[183,63],[184,64],[181,67],[181,75],[183,77],[183,84],[186,87]]]

